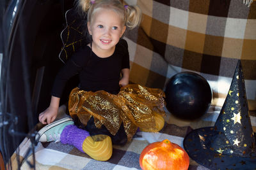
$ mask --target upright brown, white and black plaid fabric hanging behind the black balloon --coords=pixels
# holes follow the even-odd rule
[[[241,60],[248,99],[256,99],[256,2],[137,0],[138,29],[127,31],[131,82],[164,89],[175,73],[204,76],[215,98],[227,95]],[[223,104],[216,99],[216,104]]]

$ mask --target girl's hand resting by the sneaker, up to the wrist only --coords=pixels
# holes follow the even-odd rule
[[[58,108],[49,106],[45,111],[39,114],[38,120],[42,124],[51,124],[58,114]]]

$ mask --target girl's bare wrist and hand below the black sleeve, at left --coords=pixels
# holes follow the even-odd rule
[[[53,120],[57,117],[58,114],[58,108],[60,105],[60,97],[51,97],[51,103],[50,106],[39,114],[38,120],[42,124],[51,124]]]

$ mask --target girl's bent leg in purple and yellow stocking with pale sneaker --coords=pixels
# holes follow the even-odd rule
[[[61,141],[75,146],[95,160],[105,161],[112,155],[111,138],[106,135],[90,136],[89,132],[79,129],[71,118],[63,118],[43,127],[36,134],[36,141]]]

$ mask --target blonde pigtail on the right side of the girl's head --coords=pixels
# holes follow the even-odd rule
[[[140,25],[141,21],[141,10],[138,6],[125,6],[127,15],[126,26],[129,29],[134,29],[137,25]]]

